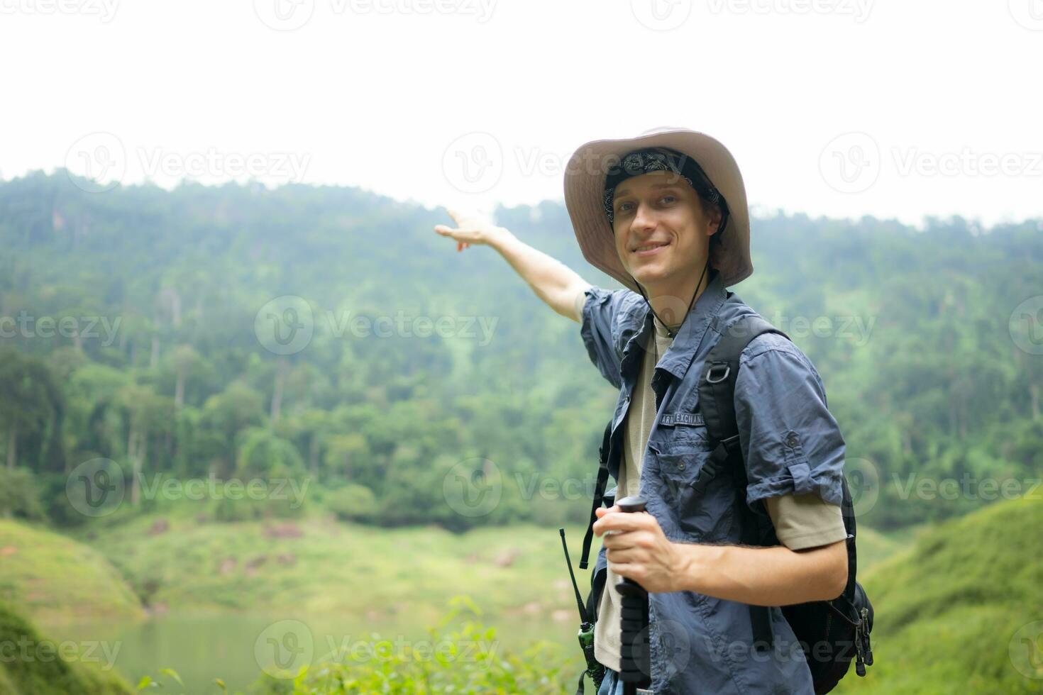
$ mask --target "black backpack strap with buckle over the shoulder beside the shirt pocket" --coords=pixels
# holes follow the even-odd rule
[[[713,451],[699,472],[695,489],[701,493],[722,469],[730,468],[739,483],[739,494],[747,486],[746,465],[738,441],[738,423],[735,420],[735,379],[738,376],[738,359],[746,346],[761,333],[779,333],[790,337],[765,321],[759,316],[743,317],[721,336],[721,340],[710,349],[699,378],[699,408],[706,423],[710,442],[715,442]],[[744,524],[745,545],[760,545],[762,535],[756,518]],[[772,635],[771,610],[766,605],[750,605],[750,620],[753,624],[753,644],[758,650],[770,649]]]

